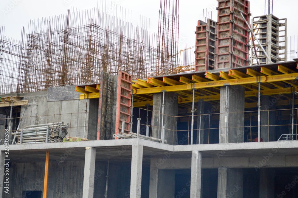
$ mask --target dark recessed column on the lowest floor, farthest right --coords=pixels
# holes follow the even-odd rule
[[[274,170],[260,169],[260,198],[274,198]]]

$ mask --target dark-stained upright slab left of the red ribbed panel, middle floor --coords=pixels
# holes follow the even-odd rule
[[[100,99],[98,107],[98,135],[100,140],[112,138],[112,116],[114,105],[114,76],[102,72],[100,82]],[[117,91],[116,91],[117,92]],[[116,97],[117,98],[117,97]]]

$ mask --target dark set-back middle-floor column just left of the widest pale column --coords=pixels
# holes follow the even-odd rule
[[[205,101],[198,102],[198,116],[197,116],[197,144],[208,144],[208,128],[209,128],[209,115],[212,114],[212,104]],[[200,116],[202,115],[202,116]],[[201,133],[200,133],[201,123]]]

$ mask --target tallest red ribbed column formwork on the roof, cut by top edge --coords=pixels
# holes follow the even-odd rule
[[[233,68],[249,64],[249,32],[246,21],[250,18],[248,0],[218,0],[216,40],[216,68]]]

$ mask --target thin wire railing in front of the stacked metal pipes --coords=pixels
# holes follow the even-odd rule
[[[7,130],[10,144],[55,143],[78,137],[85,141],[89,119],[86,115],[89,115],[88,112],[1,118],[0,144],[4,144],[4,133]]]

